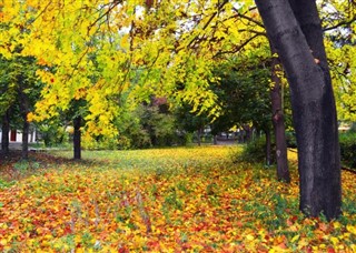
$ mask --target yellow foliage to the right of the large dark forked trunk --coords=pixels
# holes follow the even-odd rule
[[[356,16],[350,1],[322,1],[320,19],[339,121],[356,121]]]

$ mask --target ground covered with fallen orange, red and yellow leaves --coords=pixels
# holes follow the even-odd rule
[[[298,212],[298,180],[234,164],[231,148],[85,152],[2,163],[1,252],[355,252],[355,174],[344,215]],[[70,156],[71,153],[61,153]]]

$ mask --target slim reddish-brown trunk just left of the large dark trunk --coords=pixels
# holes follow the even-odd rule
[[[271,48],[271,52],[275,50]],[[290,182],[290,174],[288,169],[288,158],[287,158],[287,143],[286,143],[286,128],[284,111],[281,104],[281,80],[278,77],[280,74],[280,62],[278,58],[271,59],[271,82],[273,87],[270,89],[271,98],[271,110],[273,110],[273,124],[276,141],[276,162],[277,162],[277,179],[279,181]]]

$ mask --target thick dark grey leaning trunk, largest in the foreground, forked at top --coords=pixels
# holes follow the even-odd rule
[[[315,6],[315,1],[300,1],[304,2]],[[316,44],[313,41],[323,39],[316,7],[306,9],[306,4],[300,6],[305,12],[303,16],[314,22],[313,36],[320,37],[308,41],[309,32],[304,28],[304,34],[300,28],[305,27],[306,19],[296,18],[288,1],[256,0],[256,3],[290,87],[298,144],[300,210],[312,216],[324,213],[327,219],[337,217],[342,208],[342,188],[336,107],[327,63],[322,61],[325,53],[323,42],[316,48],[324,53],[317,55],[313,50]]]

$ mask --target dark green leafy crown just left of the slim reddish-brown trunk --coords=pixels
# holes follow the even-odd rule
[[[219,84],[214,90],[222,111],[212,124],[214,132],[251,123],[259,130],[270,128],[270,71],[260,68],[258,64],[261,63],[257,61],[259,58],[269,58],[265,55],[266,52],[268,50],[261,47],[254,53],[233,58],[216,68]]]

